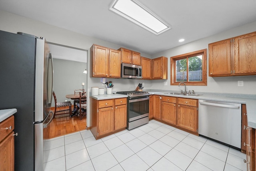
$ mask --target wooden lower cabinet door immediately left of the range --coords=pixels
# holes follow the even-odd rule
[[[115,130],[126,128],[127,124],[127,106],[115,106]]]

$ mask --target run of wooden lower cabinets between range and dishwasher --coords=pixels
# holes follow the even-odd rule
[[[152,101],[153,119],[198,135],[197,99],[153,95]]]

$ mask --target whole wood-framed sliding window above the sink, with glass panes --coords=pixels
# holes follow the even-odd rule
[[[171,85],[207,85],[207,50],[198,50],[173,56],[171,61]]]

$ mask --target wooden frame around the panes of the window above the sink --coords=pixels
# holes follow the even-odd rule
[[[171,74],[170,74],[170,85],[179,85],[180,82],[176,82],[176,60],[187,59],[187,76],[188,76],[188,58],[193,56],[202,55],[202,81],[201,82],[189,82],[188,79],[186,85],[207,85],[207,49],[202,49],[194,52],[189,52],[186,54],[172,56],[170,57],[170,66],[171,66]]]

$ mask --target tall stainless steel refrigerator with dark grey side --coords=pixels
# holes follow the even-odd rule
[[[53,64],[44,38],[0,30],[0,109],[14,114],[15,171],[43,170],[43,131],[52,120]]]

